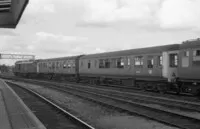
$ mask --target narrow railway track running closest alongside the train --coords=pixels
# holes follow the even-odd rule
[[[1,76],[2,77],[2,76]],[[188,101],[188,102],[199,102],[199,98],[193,97],[193,96],[188,96],[188,95],[174,95],[174,94],[159,94],[155,92],[148,92],[148,91],[143,91],[143,90],[136,90],[138,88],[133,88],[133,87],[128,87],[128,86],[116,86],[116,85],[92,85],[92,84],[87,84],[87,83],[76,83],[76,82],[57,82],[53,80],[35,80],[35,79],[24,79],[24,78],[18,78],[18,77],[2,77],[5,79],[14,79],[14,80],[23,80],[26,82],[35,82],[35,83],[44,83],[44,84],[55,84],[55,85],[74,85],[74,86],[86,86],[86,87],[97,87],[101,89],[106,89],[106,90],[116,90],[120,92],[127,92],[130,94],[137,94],[137,95],[142,95],[142,96],[147,96],[147,97],[153,97],[154,99],[156,98],[162,98],[162,99],[171,99],[171,100],[178,100],[178,101]],[[177,101],[177,102],[178,102]]]

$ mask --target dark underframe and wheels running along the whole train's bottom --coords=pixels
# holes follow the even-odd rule
[[[167,80],[138,79],[134,77],[118,76],[86,76],[78,74],[56,74],[56,73],[15,73],[16,76],[24,78],[34,78],[39,80],[72,81],[77,83],[87,83],[92,85],[117,85],[126,86],[133,89],[142,89],[145,91],[155,91],[160,93],[173,92],[176,94],[198,95],[200,96],[200,81],[177,79],[174,82]]]

